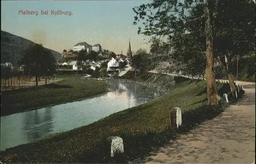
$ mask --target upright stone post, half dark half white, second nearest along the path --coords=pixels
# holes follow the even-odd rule
[[[170,127],[179,128],[182,124],[182,116],[181,109],[179,107],[175,107],[170,111]]]

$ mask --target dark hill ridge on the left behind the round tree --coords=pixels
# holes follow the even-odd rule
[[[11,34],[1,30],[1,63],[11,62],[14,66],[17,66],[19,56],[26,50],[27,47],[36,43],[29,39]],[[44,46],[44,45],[43,45]],[[61,57],[61,53],[49,49],[56,60]]]

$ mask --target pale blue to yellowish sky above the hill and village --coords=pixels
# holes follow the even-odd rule
[[[41,43],[62,52],[78,42],[101,44],[104,49],[126,54],[131,38],[132,51],[150,49],[151,37],[138,35],[132,7],[148,1],[1,1],[1,30]],[[19,14],[38,11],[38,15]],[[42,15],[41,10],[48,10]],[[51,10],[71,11],[72,15],[52,15]]]

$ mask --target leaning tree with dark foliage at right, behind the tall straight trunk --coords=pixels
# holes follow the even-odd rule
[[[230,68],[232,61],[255,52],[255,4],[251,0],[220,2],[215,27],[215,53],[227,72],[230,89],[234,92],[234,72]]]

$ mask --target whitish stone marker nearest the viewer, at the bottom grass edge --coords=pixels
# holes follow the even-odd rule
[[[118,136],[111,136],[108,138],[108,140],[111,142],[111,152],[110,156],[114,157],[116,153],[123,153],[123,139]]]

